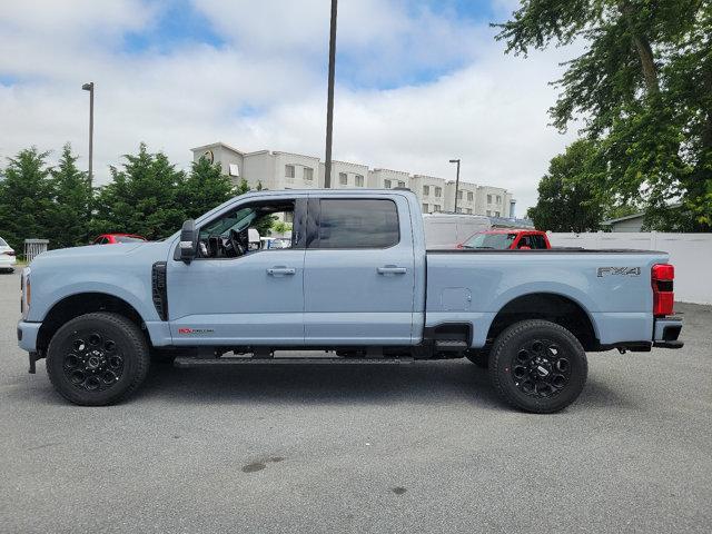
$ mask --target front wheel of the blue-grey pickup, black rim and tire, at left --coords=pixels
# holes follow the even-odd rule
[[[146,378],[148,345],[118,314],[93,313],[62,326],[47,352],[47,374],[61,396],[83,406],[117,403]]]

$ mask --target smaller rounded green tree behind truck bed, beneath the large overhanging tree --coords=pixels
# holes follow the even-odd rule
[[[595,231],[606,214],[596,185],[605,175],[593,141],[578,140],[554,157],[538,184],[538,201],[526,212],[540,230]]]

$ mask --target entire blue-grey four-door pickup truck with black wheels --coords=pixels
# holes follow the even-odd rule
[[[290,247],[250,250],[276,214]],[[126,398],[151,362],[322,350],[307,362],[467,357],[508,404],[552,413],[582,392],[586,352],[682,346],[673,278],[659,251],[426,250],[408,190],[256,191],[162,241],[41,254],[22,271],[18,338],[30,373],[46,358],[80,405]]]

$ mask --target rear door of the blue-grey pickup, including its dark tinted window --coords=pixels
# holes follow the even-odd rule
[[[400,195],[309,199],[305,343],[409,345],[411,212]]]

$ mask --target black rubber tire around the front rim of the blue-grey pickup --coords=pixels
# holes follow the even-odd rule
[[[103,388],[97,386],[96,390],[90,390],[72,383],[68,376],[67,355],[77,353],[80,356],[77,359],[82,359],[86,354],[72,344],[77,338],[89,338],[95,334],[100,336],[99,339],[109,339],[113,344],[112,354],[120,354],[121,373],[110,385],[101,383]],[[83,373],[81,365],[78,364],[77,368]],[[47,350],[47,374],[52,386],[67,400],[81,406],[106,406],[123,400],[141,385],[149,365],[148,343],[140,328],[122,315],[103,312],[81,315],[68,322],[52,336]]]

